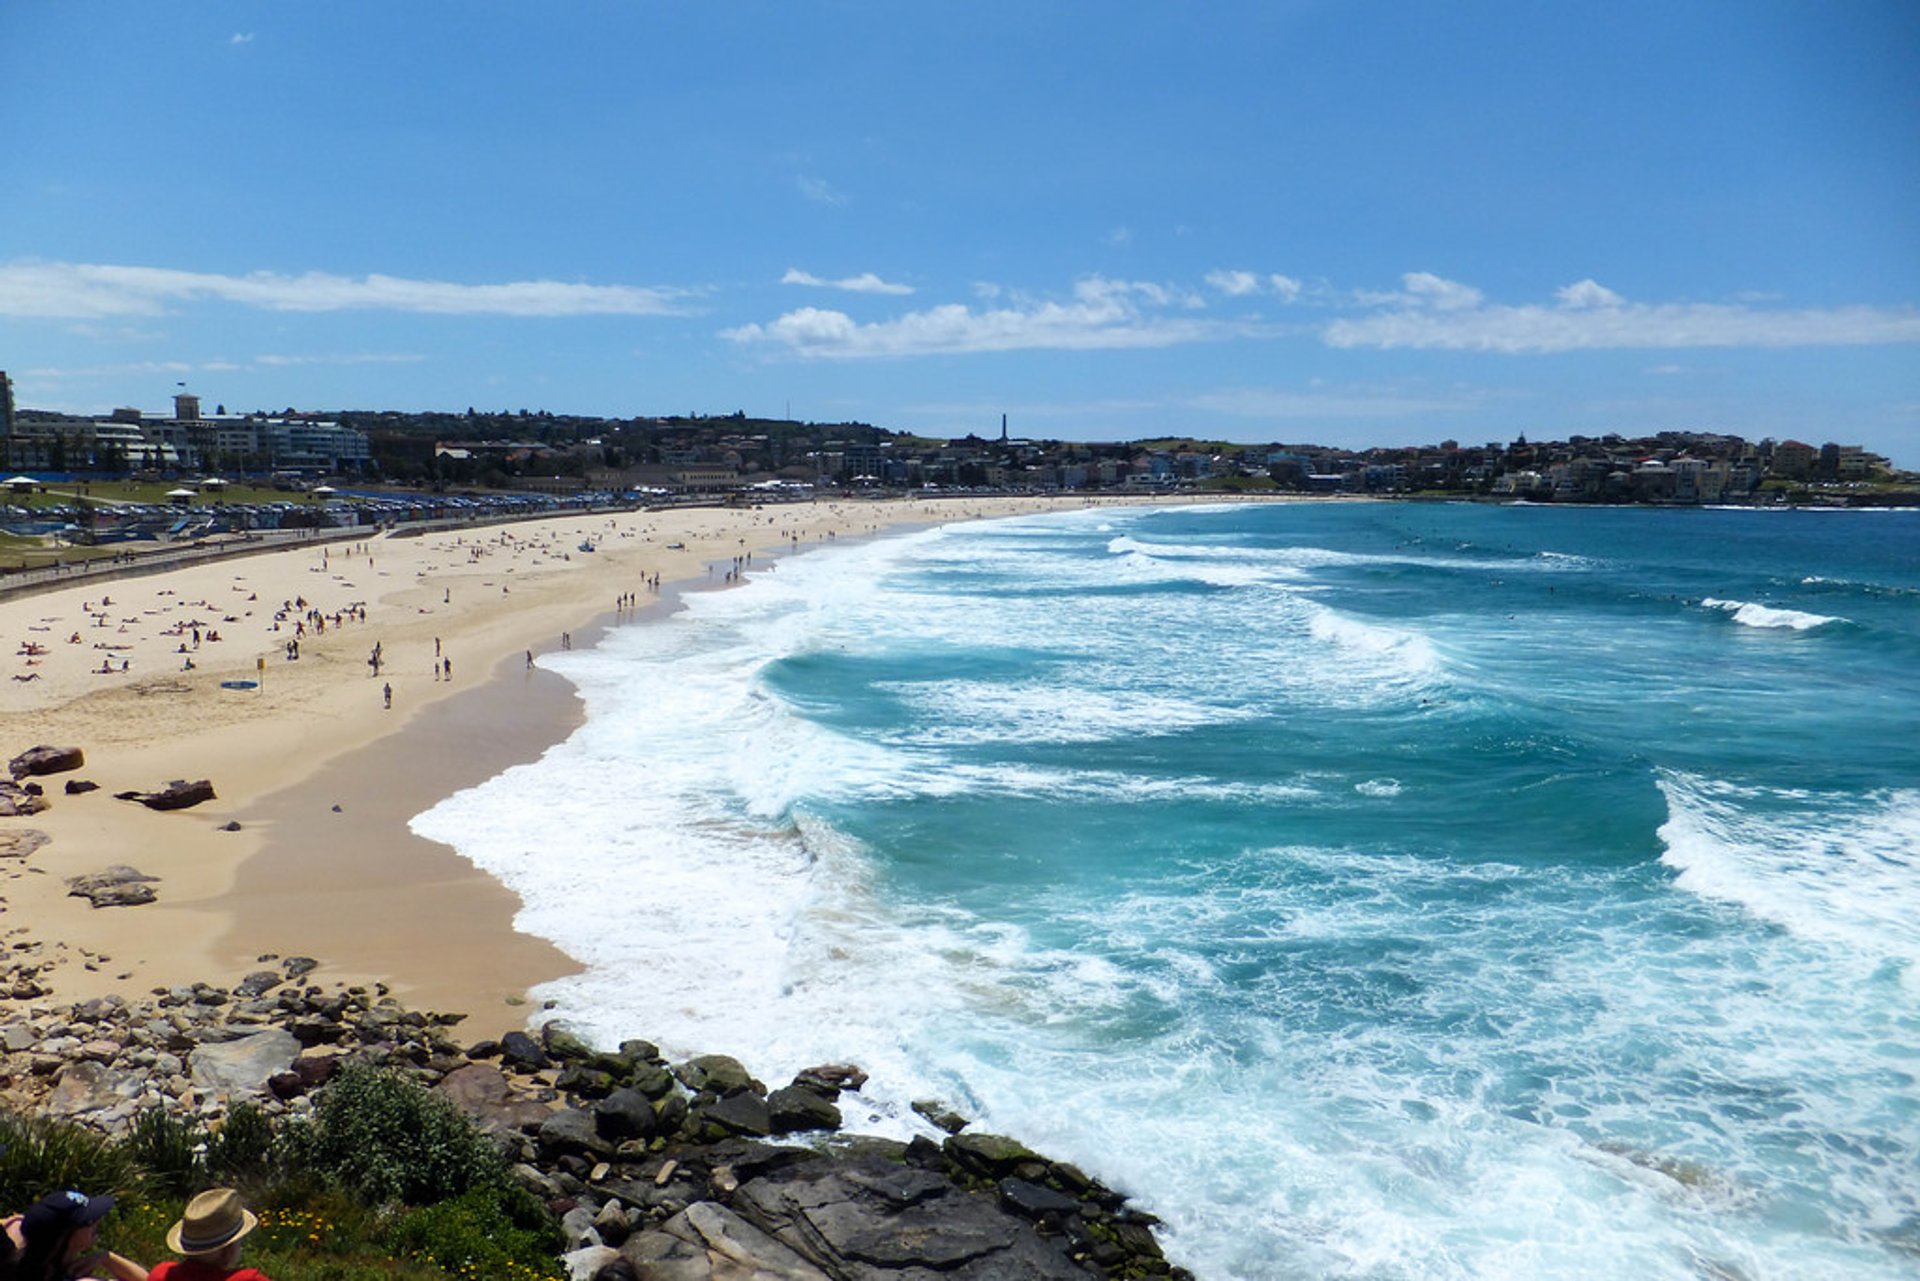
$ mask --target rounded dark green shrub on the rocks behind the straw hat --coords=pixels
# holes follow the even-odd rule
[[[376,1202],[426,1206],[505,1181],[499,1152],[451,1102],[361,1064],[321,1091],[309,1122],[282,1131],[276,1160]]]

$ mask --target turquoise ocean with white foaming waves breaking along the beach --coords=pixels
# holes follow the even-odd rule
[[[1056,513],[541,663],[415,828],[603,1043],[858,1062],[1210,1281],[1920,1275],[1920,513]]]

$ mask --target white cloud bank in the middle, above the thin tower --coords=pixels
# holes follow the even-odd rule
[[[722,336],[824,359],[1167,348],[1225,336],[1219,323],[1156,311],[1194,305],[1198,300],[1185,290],[1089,277],[1073,286],[1071,302],[1021,302],[977,311],[964,303],[945,303],[870,325],[860,325],[843,311],[801,307],[770,325],[743,325]]]

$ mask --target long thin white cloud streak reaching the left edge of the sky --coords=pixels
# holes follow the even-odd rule
[[[691,290],[637,284],[513,280],[453,284],[403,277],[244,277],[98,263],[0,265],[0,317],[161,315],[169,305],[227,302],[265,311],[415,311],[432,315],[678,315]]]

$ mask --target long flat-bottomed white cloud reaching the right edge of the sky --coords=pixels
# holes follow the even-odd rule
[[[1425,271],[1404,292],[1361,294],[1375,315],[1323,330],[1332,348],[1553,353],[1620,348],[1828,348],[1920,342],[1914,307],[1757,307],[1636,303],[1597,280],[1555,292],[1555,305],[1488,303],[1480,290]]]

